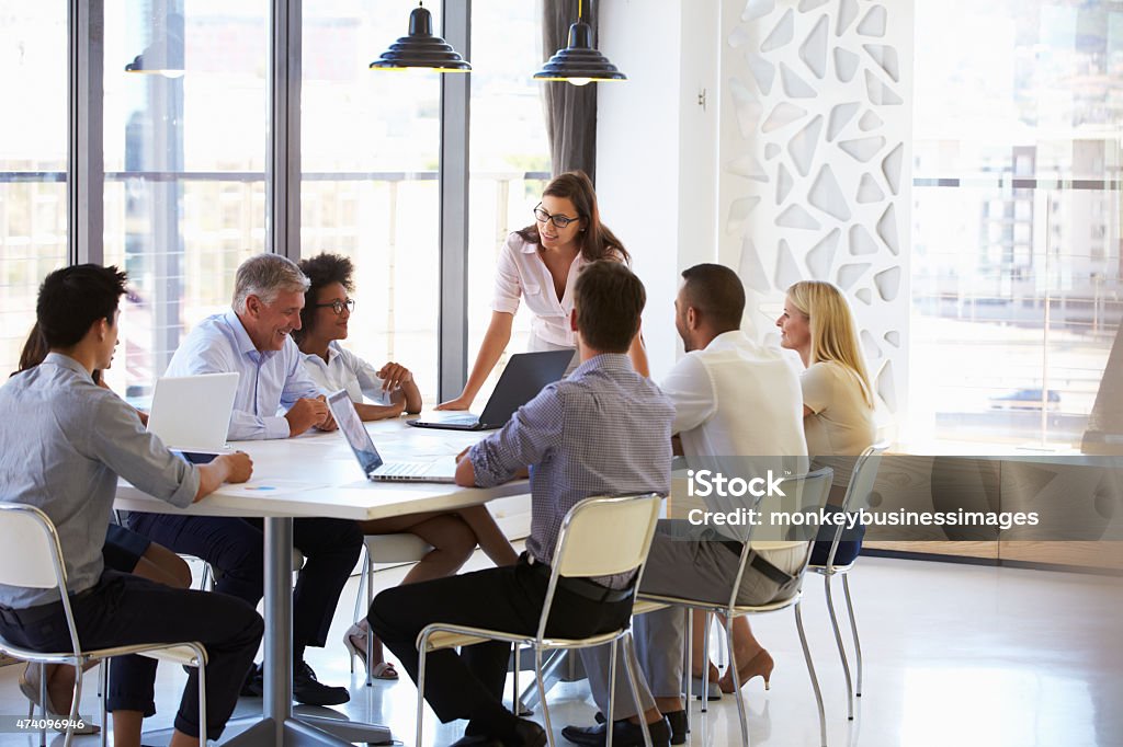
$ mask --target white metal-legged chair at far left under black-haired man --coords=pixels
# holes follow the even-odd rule
[[[54,524],[42,510],[24,504],[0,502],[0,583],[28,589],[57,589],[62,599],[66,626],[70,630],[73,651],[39,652],[16,646],[0,637],[0,652],[39,664],[39,703],[40,714],[47,720],[46,712],[46,665],[64,664],[75,667],[74,693],[71,712],[66,726],[64,746],[70,747],[73,738],[73,726],[79,718],[79,704],[82,700],[82,670],[90,662],[100,662],[113,656],[143,654],[161,661],[174,662],[199,668],[199,734],[207,735],[207,651],[202,644],[183,642],[177,644],[138,644],[82,651],[79,643],[79,631],[74,625],[70,597],[66,593],[66,565],[63,562],[62,547]],[[107,667],[102,666],[102,691]],[[28,711],[28,717],[34,711]],[[106,701],[101,700],[101,744],[106,745]],[[46,727],[40,732],[40,740],[46,745]]]

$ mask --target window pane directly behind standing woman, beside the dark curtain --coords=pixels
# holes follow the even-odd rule
[[[541,18],[541,0],[472,6],[469,368],[491,320],[495,258],[508,233],[533,221],[531,211],[549,179],[544,84],[532,79],[544,59]],[[529,333],[530,315],[522,311],[515,315],[508,352],[526,350]],[[505,357],[477,396],[478,403],[486,402],[504,365]]]

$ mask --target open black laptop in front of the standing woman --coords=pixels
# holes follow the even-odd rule
[[[499,378],[484,412],[438,413],[431,419],[408,421],[419,428],[445,428],[448,431],[491,431],[506,424],[514,411],[533,399],[547,384],[562,378],[569,361],[572,350],[547,350],[542,352],[515,353],[511,356],[503,376]]]

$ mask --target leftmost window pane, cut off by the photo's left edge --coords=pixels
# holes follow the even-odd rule
[[[66,264],[66,3],[0,6],[0,380]]]

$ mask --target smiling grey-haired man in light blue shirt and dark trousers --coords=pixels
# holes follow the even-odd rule
[[[167,376],[240,374],[228,437],[287,439],[309,428],[334,431],[325,393],[308,377],[290,336],[300,329],[308,278],[291,259],[257,255],[238,268],[232,307],[202,321],[175,351]],[[202,557],[219,573],[216,591],[257,605],[264,588],[261,519],[131,514],[129,526],[179,553]],[[301,518],[293,544],[307,557],[293,594],[293,697],[311,706],[346,703],[346,688],[316,679],[305,646],[322,647],[336,603],[358,561],[355,522]],[[244,694],[262,694],[261,671]]]

